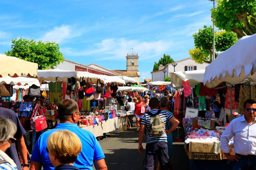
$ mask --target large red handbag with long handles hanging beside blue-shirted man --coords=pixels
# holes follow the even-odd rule
[[[39,116],[37,115],[37,111],[39,112]],[[47,128],[46,118],[40,108],[40,105],[36,104],[32,116],[30,118],[31,129],[34,129],[36,132],[44,130]]]

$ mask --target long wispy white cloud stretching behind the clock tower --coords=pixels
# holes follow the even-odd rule
[[[86,55],[100,55],[100,60],[107,59],[125,59],[126,53],[131,52],[133,48],[134,53],[138,53],[140,60],[147,60],[156,56],[162,56],[163,53],[172,45],[171,41],[152,41],[140,42],[138,40],[126,40],[124,38],[104,39],[100,43],[89,47],[90,50],[77,51],[71,48],[62,48],[61,52],[68,56],[86,56]],[[102,54],[106,54],[105,56]]]

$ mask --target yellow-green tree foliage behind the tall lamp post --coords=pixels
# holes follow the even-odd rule
[[[203,63],[205,61],[212,62],[213,51],[213,28],[204,26],[203,29],[199,29],[197,33],[193,34],[195,48],[189,50],[190,56],[197,63]],[[218,51],[225,51],[230,48],[237,41],[237,36],[233,32],[215,31],[215,56]]]

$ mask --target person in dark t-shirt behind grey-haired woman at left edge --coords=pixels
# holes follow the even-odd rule
[[[5,153],[8,156],[10,156],[11,159],[14,160],[18,170],[28,170],[29,169],[28,150],[23,137],[23,135],[26,134],[25,129],[20,124],[19,118],[13,110],[0,108],[0,116],[3,116],[4,118],[7,118],[7,119],[11,119],[17,128],[17,131],[14,135],[14,138],[16,139],[16,141],[12,143],[11,147],[6,149]],[[18,149],[18,152],[22,159],[22,165],[20,164],[20,160],[19,160],[19,156],[16,148]]]

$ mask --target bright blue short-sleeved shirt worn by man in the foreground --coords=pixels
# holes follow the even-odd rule
[[[53,132],[63,129],[74,132],[80,138],[82,143],[82,151],[78,155],[77,160],[74,163],[74,166],[80,169],[93,170],[93,160],[105,158],[102,149],[99,145],[99,142],[91,132],[79,128],[76,124],[63,123],[57,125],[57,127],[52,130],[44,132],[38,138],[33,149],[31,160],[34,162],[41,162],[44,170],[54,170],[49,155],[45,149],[47,147],[47,138]]]

